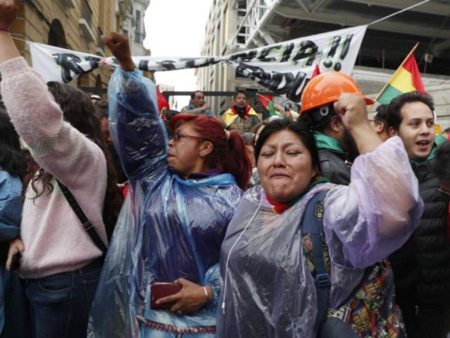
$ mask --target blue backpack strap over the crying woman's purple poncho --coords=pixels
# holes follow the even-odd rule
[[[327,192],[322,190],[311,198],[306,205],[301,220],[302,238],[309,234],[312,242],[313,263],[316,272],[314,282],[317,290],[316,332],[319,332],[320,327],[326,320],[331,286],[330,275],[326,272],[322,251],[322,242],[325,238],[323,232],[323,200]]]

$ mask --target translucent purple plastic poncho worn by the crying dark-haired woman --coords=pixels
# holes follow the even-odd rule
[[[422,214],[417,179],[398,137],[359,156],[349,186],[317,185],[281,214],[263,188],[247,191],[222,244],[218,337],[316,336],[317,296],[300,221],[307,202],[323,189],[329,189],[323,226],[331,257],[331,308],[349,296],[366,267],[406,241]]]

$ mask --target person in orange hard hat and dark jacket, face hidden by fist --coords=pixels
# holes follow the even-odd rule
[[[312,78],[303,90],[297,121],[314,131],[322,175],[331,183],[348,185],[350,162],[357,156],[357,148],[334,112],[334,102],[342,93],[362,96],[354,80],[344,73],[329,72]],[[373,103],[367,98],[365,101]]]

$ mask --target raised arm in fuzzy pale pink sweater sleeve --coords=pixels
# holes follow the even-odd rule
[[[0,27],[9,27],[18,9],[18,0],[0,1]],[[64,121],[60,106],[20,56],[9,32],[0,31],[0,46],[3,100],[36,162],[69,188],[85,178],[89,182],[92,172],[105,171],[102,150]]]

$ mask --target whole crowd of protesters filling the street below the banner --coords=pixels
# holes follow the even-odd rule
[[[318,75],[261,121],[238,90],[160,116],[126,36],[108,100],[45,84],[0,0],[0,337],[450,333],[450,143],[410,92],[368,119]]]

